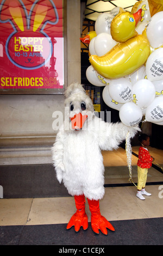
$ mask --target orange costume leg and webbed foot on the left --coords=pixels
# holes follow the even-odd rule
[[[70,229],[74,225],[74,229],[77,232],[79,231],[80,227],[83,227],[83,229],[86,230],[88,228],[88,221],[85,213],[85,197],[84,195],[74,196],[74,200],[77,211],[68,222],[67,229]]]

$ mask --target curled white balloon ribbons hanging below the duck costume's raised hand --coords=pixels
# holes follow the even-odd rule
[[[127,133],[127,137],[126,137],[126,155],[127,155],[127,166],[129,168],[129,181],[132,181],[133,184],[135,185],[133,178],[132,178],[132,166],[131,166],[131,162],[132,162],[132,148],[131,148],[131,143],[130,143],[130,133]],[[135,185],[136,186],[136,185]],[[137,186],[136,186],[137,187]]]

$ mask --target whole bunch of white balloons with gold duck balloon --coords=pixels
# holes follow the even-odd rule
[[[147,0],[132,11],[116,7],[98,16],[86,77],[105,86],[104,102],[125,125],[136,126],[143,115],[163,125],[163,11],[151,17]]]

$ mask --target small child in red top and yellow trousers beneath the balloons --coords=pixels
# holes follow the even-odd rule
[[[151,193],[145,191],[146,181],[147,181],[147,173],[148,168],[152,166],[152,162],[154,161],[153,157],[149,154],[147,146],[150,145],[150,138],[145,133],[142,133],[139,136],[139,141],[141,143],[141,147],[139,148],[139,160],[137,161],[137,194],[136,197],[141,200],[145,200],[146,196],[151,196]]]

